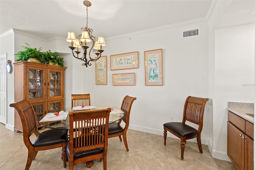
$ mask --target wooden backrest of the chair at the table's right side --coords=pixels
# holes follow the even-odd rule
[[[130,97],[127,95],[122,101],[121,110],[124,112],[124,117],[122,117],[122,121],[124,121],[126,124],[129,124],[132,103],[135,100],[136,97]]]

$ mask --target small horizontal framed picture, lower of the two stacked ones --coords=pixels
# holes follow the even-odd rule
[[[112,74],[113,85],[135,85],[135,73]]]

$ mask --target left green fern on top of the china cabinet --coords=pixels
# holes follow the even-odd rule
[[[32,61],[32,62],[38,62],[38,63],[48,63],[48,60],[46,58],[46,55],[44,52],[41,52],[41,47],[39,49],[36,48],[31,48],[30,44],[25,43],[27,46],[22,46],[24,47],[24,51],[19,51],[18,53],[14,54],[18,57],[15,61]],[[33,60],[33,59],[37,59]]]

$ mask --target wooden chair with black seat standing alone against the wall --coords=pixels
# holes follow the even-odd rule
[[[184,105],[182,122],[164,123],[164,145],[166,145],[167,131],[180,138],[181,160],[184,159],[186,140],[197,138],[199,151],[203,153],[201,132],[203,128],[204,107],[208,99],[188,96]],[[198,129],[186,125],[186,121],[198,125]]]

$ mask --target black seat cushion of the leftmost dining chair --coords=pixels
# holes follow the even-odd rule
[[[50,146],[67,142],[68,130],[51,129],[40,133],[34,140],[34,147]]]

